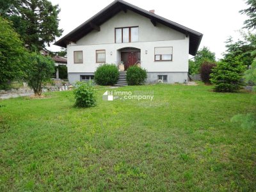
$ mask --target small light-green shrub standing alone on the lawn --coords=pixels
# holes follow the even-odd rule
[[[89,108],[96,106],[96,97],[91,82],[77,82],[74,90],[75,106],[77,108]]]

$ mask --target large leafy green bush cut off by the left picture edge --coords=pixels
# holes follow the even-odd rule
[[[7,88],[10,81],[22,77],[26,52],[12,24],[0,17],[0,88]]]

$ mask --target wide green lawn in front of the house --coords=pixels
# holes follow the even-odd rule
[[[0,100],[0,191],[255,191],[253,93],[127,86],[154,99],[73,108],[72,92]]]

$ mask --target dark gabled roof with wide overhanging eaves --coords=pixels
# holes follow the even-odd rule
[[[198,47],[200,45],[200,42],[202,40],[202,36],[203,36],[202,33],[186,28],[180,24],[177,24],[176,22],[173,22],[172,20],[164,19],[159,15],[143,10],[138,6],[134,6],[122,0],[113,1],[113,3],[106,6],[106,8],[101,10],[92,18],[86,20],[86,22],[78,26],[76,29],[74,29],[67,35],[63,36],[63,38],[58,40],[54,45],[58,45],[60,47],[67,47],[68,43],[76,42],[77,40],[82,38],[84,35],[87,35],[88,33],[90,33],[93,29],[99,30],[98,26],[100,26],[101,24],[109,20],[111,17],[116,15],[116,13],[121,11],[126,12],[127,10],[131,10],[132,12],[135,12],[140,15],[143,15],[144,17],[147,17],[152,21],[152,24],[156,24],[157,22],[159,22],[161,24],[164,24],[165,26],[168,26],[169,28],[179,31],[180,33],[189,35],[189,54],[195,56],[198,50]]]

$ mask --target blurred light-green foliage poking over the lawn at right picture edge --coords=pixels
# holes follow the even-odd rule
[[[241,124],[243,129],[256,129],[256,115],[253,113],[235,115],[230,121]]]

